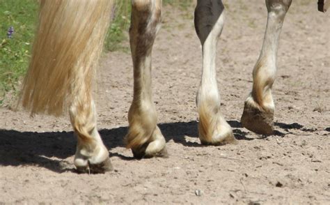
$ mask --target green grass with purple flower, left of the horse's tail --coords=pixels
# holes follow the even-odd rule
[[[31,42],[38,15],[38,1],[0,0],[0,104],[4,93],[15,91],[29,61]],[[7,32],[13,26],[13,38]]]

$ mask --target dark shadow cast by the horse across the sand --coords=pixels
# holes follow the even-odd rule
[[[241,129],[239,121],[228,121],[233,128],[234,135],[238,140],[253,140],[246,135],[249,131]],[[298,123],[285,124],[275,123],[275,126],[284,130],[299,129],[306,130]],[[159,128],[166,137],[166,142],[173,139],[175,143],[184,146],[203,146],[197,142],[187,142],[184,136],[198,137],[198,123],[176,122],[161,123]],[[123,147],[123,138],[127,133],[127,127],[100,130],[104,144],[109,150]],[[283,132],[275,131],[274,135],[283,137]],[[77,140],[73,132],[19,132],[16,130],[0,130],[0,166],[22,166],[35,165],[45,167],[54,172],[68,171],[68,162],[63,159],[74,155]],[[120,153],[110,153],[123,160],[132,160]],[[51,159],[56,157],[59,160]]]

